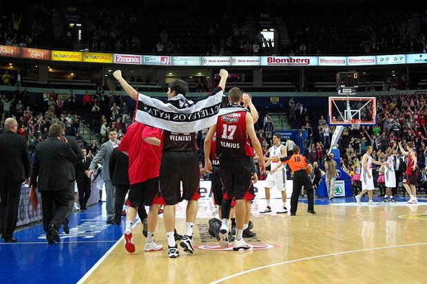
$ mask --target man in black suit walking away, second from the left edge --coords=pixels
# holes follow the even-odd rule
[[[37,144],[30,179],[41,193],[43,229],[49,244],[61,241],[58,230],[67,217],[70,200],[67,162],[74,164],[78,160],[62,133],[62,127],[53,124],[49,127],[49,139]]]

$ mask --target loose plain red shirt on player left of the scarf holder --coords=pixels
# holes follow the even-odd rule
[[[138,184],[158,177],[160,171],[160,146],[144,142],[144,138],[158,138],[158,129],[140,122],[134,122],[118,145],[119,151],[129,153],[129,182]]]

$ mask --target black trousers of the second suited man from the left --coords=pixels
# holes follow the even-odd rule
[[[68,190],[46,190],[40,193],[43,230],[46,232],[46,239],[52,241],[53,237],[49,231],[49,225],[52,223],[59,230],[65,217],[67,217]]]

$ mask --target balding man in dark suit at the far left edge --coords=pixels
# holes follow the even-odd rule
[[[4,122],[6,132],[0,135],[0,234],[5,243],[16,243],[22,182],[30,177],[30,157],[25,138],[17,135],[17,120]]]

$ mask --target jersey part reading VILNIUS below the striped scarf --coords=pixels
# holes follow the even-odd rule
[[[176,133],[162,130],[162,143],[160,145],[163,152],[167,151],[197,151],[196,132]]]

